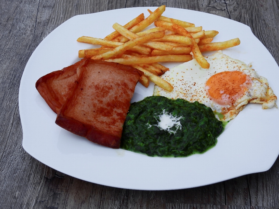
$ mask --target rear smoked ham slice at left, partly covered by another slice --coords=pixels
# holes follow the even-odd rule
[[[74,65],[42,76],[36,82],[36,89],[56,114],[71,93],[78,78],[76,69],[83,61],[80,60]]]

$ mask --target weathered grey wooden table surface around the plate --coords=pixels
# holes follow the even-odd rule
[[[279,208],[279,158],[267,172],[213,185],[140,191],[67,176],[22,148],[19,83],[44,37],[75,15],[163,4],[250,26],[279,63],[279,0],[0,0],[0,208]]]

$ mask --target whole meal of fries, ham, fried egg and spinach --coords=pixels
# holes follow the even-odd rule
[[[247,103],[276,106],[266,78],[218,51],[239,45],[238,38],[212,42],[218,31],[164,17],[164,10],[115,23],[103,39],[79,37],[101,47],[79,50],[82,60],[36,82],[57,125],[107,147],[178,157],[214,147]],[[158,62],[185,63],[169,69]],[[154,94],[130,104],[138,81],[155,83]]]

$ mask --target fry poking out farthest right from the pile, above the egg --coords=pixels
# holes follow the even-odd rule
[[[239,44],[240,44],[239,38],[234,38],[228,41],[204,44],[199,46],[199,48],[200,51],[217,51],[217,50],[227,49],[230,47],[235,47]]]

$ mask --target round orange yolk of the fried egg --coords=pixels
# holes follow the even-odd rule
[[[209,99],[220,105],[232,105],[252,85],[250,76],[239,71],[224,71],[211,76],[206,82]]]

